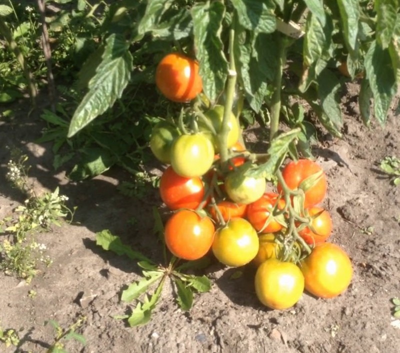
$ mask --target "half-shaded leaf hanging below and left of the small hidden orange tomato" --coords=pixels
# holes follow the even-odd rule
[[[337,130],[343,125],[341,109],[336,98],[340,89],[340,82],[337,77],[328,69],[323,69],[317,77],[318,97],[320,105]]]

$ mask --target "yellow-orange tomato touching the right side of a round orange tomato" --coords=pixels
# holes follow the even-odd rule
[[[258,236],[251,224],[243,218],[232,218],[215,232],[212,252],[228,266],[242,266],[258,252]]]

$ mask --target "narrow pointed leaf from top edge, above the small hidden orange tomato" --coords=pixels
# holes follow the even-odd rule
[[[343,34],[349,52],[356,49],[359,21],[359,1],[358,0],[338,0],[341,22],[343,24]]]

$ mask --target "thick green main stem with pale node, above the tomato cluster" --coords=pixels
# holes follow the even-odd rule
[[[229,157],[227,141],[228,141],[228,133],[229,133],[229,120],[230,114],[233,106],[233,97],[234,97],[234,89],[236,84],[236,67],[234,63],[234,53],[233,53],[233,44],[234,44],[234,29],[230,28],[229,30],[229,69],[228,69],[228,77],[226,81],[226,101],[223,110],[223,119],[221,131],[218,135],[218,145],[219,145],[219,153],[221,157],[222,165]]]

